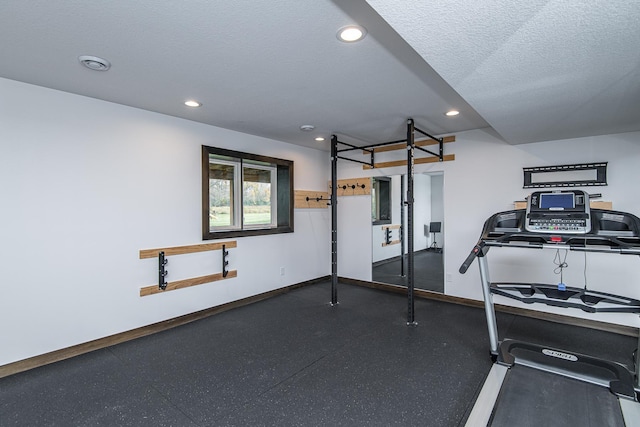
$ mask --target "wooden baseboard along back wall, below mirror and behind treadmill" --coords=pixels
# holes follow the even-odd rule
[[[404,286],[390,285],[387,283],[378,283],[378,282],[367,282],[364,280],[349,279],[344,277],[340,277],[339,280],[342,283],[365,286],[368,288],[380,289],[388,292],[395,292],[400,294],[407,293],[407,288]],[[482,301],[469,299],[469,298],[454,297],[450,295],[444,295],[438,292],[425,291],[422,289],[415,289],[414,295],[418,298],[426,298],[426,299],[443,301],[443,302],[448,302],[453,304],[466,305],[470,307],[478,307],[478,308],[484,307],[484,303]],[[598,320],[582,319],[582,318],[565,316],[562,314],[555,314],[555,313],[544,313],[537,310],[530,310],[530,309],[520,308],[520,307],[511,307],[511,306],[502,305],[502,304],[495,304],[495,308],[496,308],[496,311],[500,311],[502,313],[514,314],[516,316],[548,320],[550,322],[562,323],[565,325],[572,325],[572,326],[579,326],[582,328],[596,329],[599,331],[612,332],[614,334],[627,335],[631,337],[638,337],[638,332],[639,332],[638,328],[634,328],[632,326],[616,325],[613,323],[601,322]]]

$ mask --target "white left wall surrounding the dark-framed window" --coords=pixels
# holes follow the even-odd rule
[[[329,155],[6,79],[0,93],[0,365],[330,274],[329,210],[301,209],[294,233],[236,239],[237,278],[140,297],[157,283],[140,249],[202,242],[201,145],[294,160],[305,190],[326,189]],[[168,280],[220,263],[173,256]]]

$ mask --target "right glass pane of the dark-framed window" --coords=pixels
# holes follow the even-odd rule
[[[242,182],[242,213],[245,226],[273,224],[271,181],[274,168],[245,167]]]

